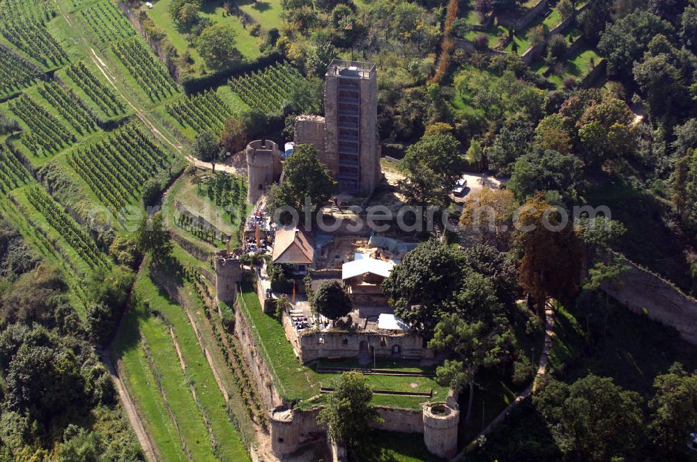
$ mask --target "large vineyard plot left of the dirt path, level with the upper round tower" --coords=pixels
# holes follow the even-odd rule
[[[137,125],[126,125],[94,145],[78,148],[68,164],[107,207],[118,212],[140,199],[146,180],[169,166],[159,143]]]

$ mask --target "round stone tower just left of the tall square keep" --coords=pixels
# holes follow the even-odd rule
[[[256,203],[268,187],[281,175],[278,145],[269,140],[256,140],[247,145],[247,202]]]

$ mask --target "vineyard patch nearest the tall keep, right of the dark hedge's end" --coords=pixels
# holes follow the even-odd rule
[[[250,106],[267,114],[279,114],[302,78],[295,67],[283,63],[230,79],[229,85]]]

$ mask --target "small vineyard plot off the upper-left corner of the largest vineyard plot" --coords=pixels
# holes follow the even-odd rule
[[[33,154],[47,157],[75,142],[75,135],[30,97],[22,94],[8,106],[29,127],[29,132],[22,133],[21,140]]]

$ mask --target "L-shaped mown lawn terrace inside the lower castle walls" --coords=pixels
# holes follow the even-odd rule
[[[323,404],[327,395],[319,395],[320,387],[332,387],[336,379],[341,375],[340,372],[318,372],[323,368],[346,368],[365,369],[366,366],[358,365],[356,360],[319,360],[310,365],[303,366],[300,360],[293,352],[293,346],[286,339],[286,333],[275,317],[265,314],[261,310],[259,298],[251,285],[243,286],[242,292],[243,314],[247,315],[252,321],[259,334],[256,341],[260,339],[266,347],[266,353],[262,352],[262,356],[270,365],[273,365],[277,382],[276,386],[281,395],[293,401],[301,400],[299,406],[301,408],[311,408],[319,404]],[[246,307],[246,309],[245,309]],[[433,374],[434,369],[419,367],[418,363],[400,362],[393,360],[378,360],[376,362],[378,369],[393,369],[410,372],[424,372]],[[273,371],[272,371],[273,374]],[[421,408],[424,401],[432,399],[445,399],[447,396],[447,388],[441,387],[436,383],[432,375],[429,376],[390,376],[367,374],[369,385],[375,390],[392,390],[401,392],[432,392],[433,397],[424,399],[423,397],[395,396],[395,395],[373,395],[373,403],[381,406],[392,406],[396,408]],[[318,396],[319,395],[319,396]],[[309,399],[311,398],[312,399]],[[309,399],[309,400],[308,400]]]

